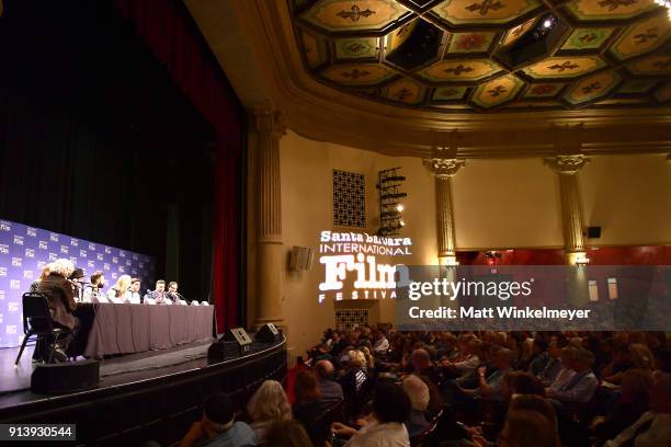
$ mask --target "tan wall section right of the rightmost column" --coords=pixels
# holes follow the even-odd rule
[[[579,174],[585,227],[599,245],[671,242],[671,163],[664,154],[592,157]]]

